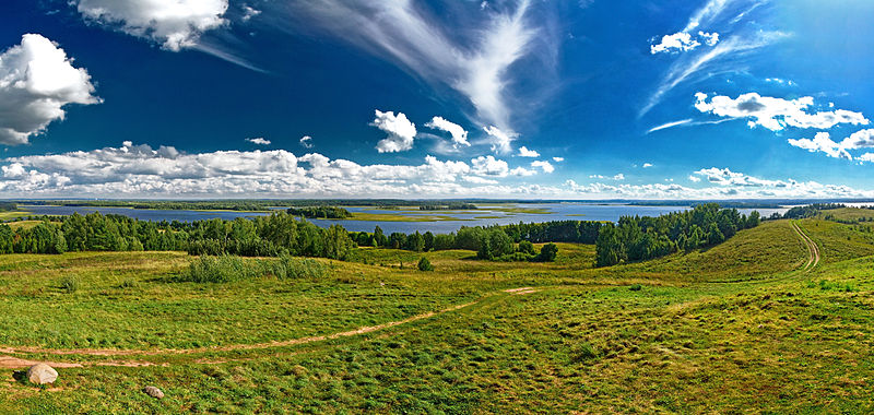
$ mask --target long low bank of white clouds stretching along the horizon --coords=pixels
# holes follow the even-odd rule
[[[874,155],[863,156],[874,161]],[[534,169],[509,169],[493,156],[464,162],[427,156],[420,165],[361,165],[318,153],[296,156],[284,150],[216,151],[187,154],[173,147],[125,143],[120,147],[0,161],[0,192],[7,197],[280,197],[362,198],[373,194],[411,198],[512,197],[519,199],[727,199],[727,198],[872,198],[874,191],[814,181],[768,180],[709,168],[693,177],[710,186],[676,183],[558,186],[501,183]],[[618,176],[618,175],[617,175]],[[694,180],[693,180],[694,181]]]

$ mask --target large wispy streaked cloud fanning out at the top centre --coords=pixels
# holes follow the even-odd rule
[[[314,0],[277,7],[300,25],[320,27],[418,78],[454,88],[470,100],[481,122],[505,130],[510,128],[511,67],[531,52],[555,49],[551,43],[533,47],[544,37],[531,25],[530,0],[519,1],[515,10],[488,8],[485,22],[452,33],[412,1]]]

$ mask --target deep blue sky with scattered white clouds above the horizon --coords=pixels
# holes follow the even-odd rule
[[[4,0],[0,198],[874,198],[870,0]]]

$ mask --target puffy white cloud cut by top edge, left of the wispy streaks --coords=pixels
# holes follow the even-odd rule
[[[226,23],[227,0],[79,0],[78,10],[87,21],[179,51]]]

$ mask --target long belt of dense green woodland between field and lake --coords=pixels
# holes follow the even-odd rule
[[[335,208],[333,208],[335,209]],[[330,208],[324,209],[330,210]],[[66,251],[182,250],[191,254],[245,257],[299,256],[346,259],[355,246],[415,252],[464,249],[495,261],[552,261],[552,242],[595,244],[598,265],[637,261],[722,242],[740,229],[759,223],[734,209],[704,204],[659,217],[622,217],[602,222],[556,221],[489,227],[462,227],[457,233],[386,235],[346,232],[340,225],[321,228],[294,214],[276,212],[255,218],[147,222],[121,215],[43,216],[32,227],[0,224],[0,253]],[[540,251],[534,244],[546,244]]]

